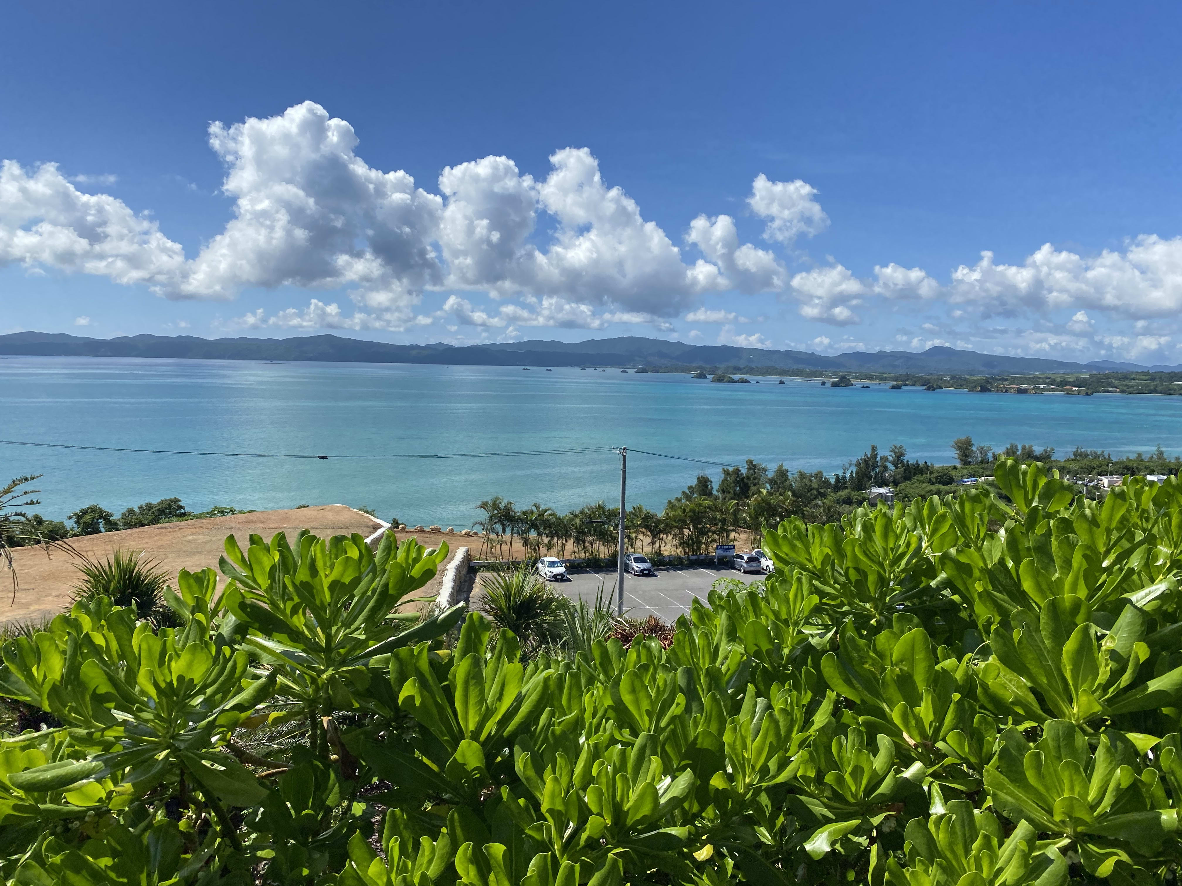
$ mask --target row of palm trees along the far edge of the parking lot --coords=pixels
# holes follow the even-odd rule
[[[715,545],[729,545],[736,533],[747,530],[758,546],[765,526],[777,526],[797,513],[788,494],[759,491],[743,501],[715,497],[680,497],[660,514],[634,504],[624,520],[630,551],[650,554],[713,554]],[[534,502],[518,508],[501,496],[478,506],[483,516],[473,523],[481,532],[481,559],[506,559],[525,552],[526,559],[543,553],[558,558],[615,558],[618,548],[619,508],[602,501],[559,514]]]

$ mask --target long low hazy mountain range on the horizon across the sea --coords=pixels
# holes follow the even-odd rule
[[[100,339],[48,332],[0,335],[0,354],[41,357],[155,357],[188,360],[314,360],[332,363],[426,363],[465,366],[767,366],[853,372],[949,372],[1014,374],[1033,372],[1178,372],[1177,366],[1093,360],[1070,363],[1040,357],[929,347],[911,351],[851,351],[824,357],[808,351],[773,351],[730,345],[623,335],[587,341],[512,341],[491,345],[389,345],[339,335],[219,338],[122,335]]]

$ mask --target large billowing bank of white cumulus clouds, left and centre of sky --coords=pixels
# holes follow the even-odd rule
[[[784,265],[740,243],[727,215],[691,222],[687,242],[704,258],[686,259],[623,188],[604,182],[586,148],[556,151],[541,181],[508,157],[460,163],[442,171],[433,194],[405,171],[369,165],[358,144],[348,122],[313,102],[210,124],[233,217],[188,259],[152,219],[74,187],[113,178],[71,182],[53,164],[25,170],[8,162],[0,174],[0,262],[103,275],[170,299],[296,286],[343,291],[355,304],[348,318],[339,305],[330,310],[337,302],[316,299],[261,320],[292,328],[323,320],[326,328],[405,330],[420,323],[416,306],[431,289],[539,300],[511,308],[532,318],[520,323],[671,328],[668,319],[693,311],[704,293],[787,285]],[[816,195],[805,182],[760,175],[748,203],[767,222],[765,237],[791,243],[829,223]],[[483,314],[485,323],[517,321]]]

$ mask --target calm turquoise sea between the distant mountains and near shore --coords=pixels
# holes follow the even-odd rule
[[[0,438],[139,449],[436,454],[626,445],[717,462],[839,470],[871,443],[950,461],[949,443],[1013,441],[1182,452],[1182,397],[719,385],[615,370],[0,357]],[[634,454],[629,504],[661,508],[700,470]],[[611,452],[429,461],[248,460],[0,445],[0,476],[44,474],[45,516],[177,495],[214,504],[366,506],[467,527],[501,495],[566,510],[618,501]]]

